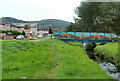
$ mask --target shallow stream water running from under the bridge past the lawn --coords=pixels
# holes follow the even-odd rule
[[[83,43],[83,48],[86,51],[86,53],[88,54],[88,56],[90,56],[89,54],[91,54],[93,52],[93,49],[96,46],[91,46],[88,43]],[[92,50],[91,50],[92,49]],[[93,54],[91,54],[93,55]],[[106,71],[107,74],[109,74],[110,76],[112,76],[114,79],[117,79],[118,81],[120,81],[120,72],[117,71],[117,67],[109,62],[102,62],[102,61],[97,61],[95,58],[92,60],[96,61],[100,67]]]

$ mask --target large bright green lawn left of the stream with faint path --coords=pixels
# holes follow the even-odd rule
[[[3,79],[110,79],[84,50],[56,39],[4,41]]]

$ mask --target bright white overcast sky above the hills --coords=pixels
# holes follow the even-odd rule
[[[82,0],[0,0],[0,17],[26,21],[61,19],[74,22],[74,10]]]

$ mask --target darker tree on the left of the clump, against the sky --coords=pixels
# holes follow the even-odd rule
[[[100,4],[100,2],[82,2],[81,6],[77,7],[76,14],[80,18],[78,23],[83,24],[85,31],[97,31],[94,19],[101,13],[99,9]]]

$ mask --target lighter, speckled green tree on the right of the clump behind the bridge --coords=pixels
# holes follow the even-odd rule
[[[120,31],[119,17],[120,17],[120,3],[102,3],[99,7],[101,8],[101,15],[97,17],[97,24],[107,32],[116,33]]]

